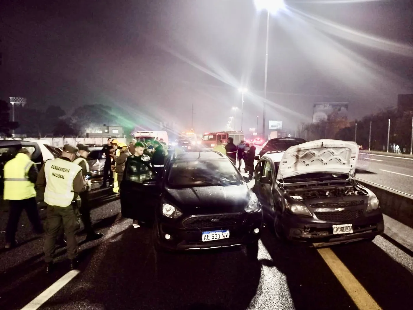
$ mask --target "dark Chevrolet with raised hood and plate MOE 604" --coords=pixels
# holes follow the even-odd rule
[[[354,179],[357,155],[354,142],[317,140],[261,157],[253,190],[278,238],[321,246],[383,233],[377,197]]]

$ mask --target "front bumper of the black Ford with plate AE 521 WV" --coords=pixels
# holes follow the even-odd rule
[[[262,212],[249,214],[241,224],[235,226],[184,228],[167,222],[158,222],[156,226],[157,236],[154,242],[166,250],[201,250],[240,246],[258,241],[261,236],[262,226]],[[259,229],[258,233],[254,232],[256,228]],[[230,231],[229,238],[202,241],[202,231],[225,229]],[[169,234],[171,238],[166,239],[166,234]]]

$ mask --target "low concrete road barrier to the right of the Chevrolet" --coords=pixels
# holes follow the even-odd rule
[[[370,181],[356,178],[376,194],[385,215],[413,228],[413,196]]]

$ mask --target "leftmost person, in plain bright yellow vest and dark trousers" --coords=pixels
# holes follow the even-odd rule
[[[27,217],[37,234],[43,233],[36,203],[36,183],[38,171],[31,161],[31,153],[27,148],[21,148],[16,157],[6,162],[4,166],[4,200],[9,202],[9,219],[6,227],[5,248],[16,246],[17,225],[21,212],[26,210]]]

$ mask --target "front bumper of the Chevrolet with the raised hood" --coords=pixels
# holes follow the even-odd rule
[[[374,238],[382,234],[385,228],[382,213],[378,210],[346,222],[324,222],[285,213],[281,222],[282,231],[288,240],[323,245]],[[352,224],[353,233],[333,234],[332,225],[336,224]]]

